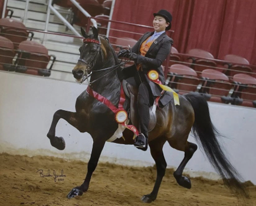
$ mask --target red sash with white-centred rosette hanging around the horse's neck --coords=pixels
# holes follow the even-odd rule
[[[110,108],[111,111],[114,112],[115,120],[118,124],[123,125],[127,129],[130,129],[130,131],[132,131],[134,133],[134,135],[136,135],[136,137],[139,135],[139,131],[137,130],[136,127],[134,127],[133,125],[126,125],[126,120],[128,118],[128,115],[127,115],[127,112],[123,108],[123,104],[124,104],[124,101],[125,101],[125,95],[124,95],[122,83],[121,83],[121,89],[120,89],[120,100],[119,100],[118,108],[115,105],[113,105],[109,101],[109,99],[103,97],[102,95],[100,95],[96,91],[93,91],[93,89],[91,89],[90,86],[87,87],[86,91],[91,97],[93,97],[93,98],[97,99],[98,101],[102,102],[104,105],[106,105],[108,108]]]

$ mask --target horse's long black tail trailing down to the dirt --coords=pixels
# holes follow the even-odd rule
[[[236,194],[248,197],[247,190],[242,184],[241,175],[232,166],[219,145],[217,136],[221,136],[212,124],[208,103],[201,95],[187,94],[185,98],[191,103],[195,112],[195,122],[192,127],[196,141],[201,142],[202,147],[224,184]],[[199,139],[198,139],[199,138]],[[199,142],[199,143],[200,143]]]

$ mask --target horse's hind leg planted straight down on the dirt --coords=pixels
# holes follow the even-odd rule
[[[164,138],[157,138],[155,141],[149,142],[151,155],[156,162],[157,177],[153,191],[148,195],[143,195],[143,202],[150,203],[156,200],[160,184],[163,180],[163,176],[165,176],[165,170],[167,166],[165,157],[163,156],[163,145],[165,144],[165,142],[166,139]]]

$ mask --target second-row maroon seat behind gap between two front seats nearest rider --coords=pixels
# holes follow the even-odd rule
[[[189,57],[187,61],[191,63],[191,68],[193,68],[199,75],[201,75],[202,71],[205,69],[214,69],[216,67],[214,56],[210,52],[202,49],[191,49],[189,50],[188,55],[193,56]]]

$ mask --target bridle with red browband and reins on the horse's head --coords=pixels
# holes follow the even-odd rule
[[[97,57],[97,55],[100,53],[100,45],[101,45],[100,37],[98,36],[98,40],[96,40],[96,39],[86,39],[86,38],[84,38],[84,39],[83,39],[83,42],[89,42],[89,43],[99,44],[99,46],[98,46],[98,48],[97,48],[97,52],[95,52],[93,58],[91,59],[91,62],[88,62],[88,61],[82,59],[81,56],[80,56],[80,58],[78,59],[78,62],[83,62],[83,63],[87,64],[87,66],[89,67],[89,69],[86,69],[86,75],[83,76],[83,79],[82,79],[82,81],[80,82],[80,84],[82,84],[84,81],[86,81],[86,79],[87,79],[87,81],[88,81],[88,78],[93,74],[93,72],[99,72],[99,71],[104,71],[104,70],[108,70],[108,69],[114,68],[113,70],[110,71],[110,72],[112,72],[112,71],[116,70],[117,68],[119,68],[120,65],[124,65],[124,64],[126,64],[127,62],[130,61],[130,60],[128,60],[128,61],[122,62],[123,59],[121,59],[120,63],[117,64],[117,65],[114,65],[113,67],[108,67],[108,68],[98,69],[98,70],[92,71],[91,69],[92,69],[92,68],[95,66],[95,64],[96,64],[96,60],[97,60],[96,57]],[[122,63],[121,63],[121,62],[122,62]],[[88,73],[90,73],[90,72],[91,72],[91,74],[88,75]],[[104,75],[101,76],[100,78],[94,79],[94,81],[92,81],[92,82],[88,82],[88,85],[91,85],[91,84],[93,84],[94,82],[98,81],[99,79],[105,77],[105,76],[108,75],[110,72],[107,72],[107,74],[104,74]]]

